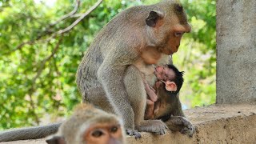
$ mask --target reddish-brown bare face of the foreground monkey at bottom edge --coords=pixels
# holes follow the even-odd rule
[[[86,144],[122,144],[121,126],[117,123],[101,123],[91,125],[84,134]]]

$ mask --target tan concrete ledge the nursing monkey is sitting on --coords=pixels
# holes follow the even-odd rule
[[[135,140],[127,137],[127,143],[254,143],[256,142],[256,106],[255,105],[222,105],[205,106],[185,110],[187,117],[196,126],[196,134],[188,138],[179,132],[162,136],[142,133],[142,138]],[[36,143],[45,144],[45,139],[5,144]]]

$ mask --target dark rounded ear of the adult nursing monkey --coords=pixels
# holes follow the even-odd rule
[[[150,11],[149,16],[146,18],[146,25],[150,27],[155,27],[158,23],[158,20],[163,16],[160,12]]]

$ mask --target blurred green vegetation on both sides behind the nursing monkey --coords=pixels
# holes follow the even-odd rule
[[[127,7],[158,1],[105,0],[86,15],[96,0],[0,0],[0,130],[70,114],[82,100],[75,74],[94,35]],[[186,72],[180,98],[188,108],[205,106],[216,97],[216,2],[182,3],[193,32],[173,55]]]

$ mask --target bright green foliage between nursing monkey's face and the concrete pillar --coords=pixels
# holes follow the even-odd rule
[[[182,0],[192,32],[185,34],[174,64],[185,71],[180,98],[188,107],[206,106],[216,98],[216,2]]]

